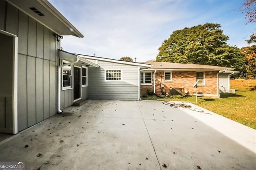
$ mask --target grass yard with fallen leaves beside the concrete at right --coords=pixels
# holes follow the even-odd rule
[[[238,123],[256,129],[256,90],[251,90],[256,80],[230,80],[230,88],[236,89],[236,94],[221,93],[220,98],[196,97],[163,99],[148,96],[144,100],[188,101],[214,113],[232,119]]]

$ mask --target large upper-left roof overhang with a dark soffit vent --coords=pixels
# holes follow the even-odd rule
[[[83,38],[80,33],[50,2],[47,0],[6,0],[37,22],[43,24],[56,34]],[[39,16],[30,8],[34,7],[43,16]]]

